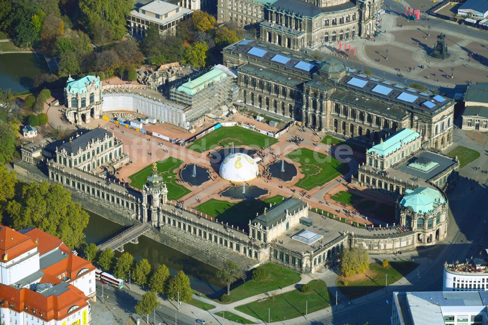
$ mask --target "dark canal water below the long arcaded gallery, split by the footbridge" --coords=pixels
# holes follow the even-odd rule
[[[85,229],[87,243],[101,244],[124,229],[124,226],[97,214],[91,212],[88,214],[90,221]],[[175,275],[180,269],[183,270],[190,278],[193,289],[212,298],[224,293],[224,286],[215,278],[217,268],[150,238],[142,236],[139,238],[139,244],[124,245],[124,251],[132,254],[136,261],[147,259],[153,269],[159,267],[160,264],[165,264],[171,275]],[[120,253],[116,252],[117,255]]]

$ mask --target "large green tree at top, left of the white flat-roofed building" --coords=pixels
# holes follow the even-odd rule
[[[120,40],[126,33],[125,16],[134,8],[134,0],[80,0],[80,10],[85,29],[91,34],[101,23],[106,23],[115,40]]]

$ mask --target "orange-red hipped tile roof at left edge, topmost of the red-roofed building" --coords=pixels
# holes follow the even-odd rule
[[[36,248],[36,243],[28,236],[22,235],[4,225],[0,225],[0,259],[10,261],[25,252]]]

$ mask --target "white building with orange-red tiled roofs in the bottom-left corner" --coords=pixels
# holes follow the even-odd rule
[[[2,324],[89,325],[95,267],[37,228],[0,226]]]

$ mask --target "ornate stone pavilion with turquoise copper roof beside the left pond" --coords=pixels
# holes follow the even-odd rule
[[[70,123],[81,125],[102,115],[102,84],[98,76],[74,80],[69,76],[64,88],[64,116]]]

